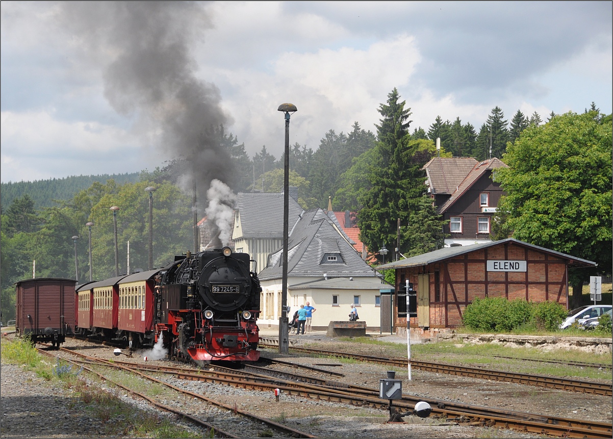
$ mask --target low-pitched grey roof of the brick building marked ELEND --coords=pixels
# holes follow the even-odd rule
[[[543,253],[549,253],[558,258],[566,259],[568,265],[571,267],[595,267],[596,262],[587,261],[586,259],[575,258],[569,254],[560,253],[555,250],[549,250],[548,248],[539,247],[538,245],[528,244],[527,242],[520,241],[513,238],[507,238],[500,241],[485,242],[481,244],[462,245],[459,247],[445,247],[440,250],[430,251],[429,253],[420,254],[419,256],[413,256],[413,258],[401,259],[400,261],[389,262],[389,264],[379,265],[377,270],[397,269],[401,267],[419,267],[421,265],[433,264],[434,262],[444,261],[445,259],[454,258],[465,253],[470,253],[475,250],[482,250],[495,245],[501,245],[504,243],[514,243],[520,246],[531,248],[532,250],[541,251]]]

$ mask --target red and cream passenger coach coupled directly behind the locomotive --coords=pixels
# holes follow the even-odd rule
[[[118,338],[132,348],[153,344],[154,278],[159,271],[134,273],[119,282]]]

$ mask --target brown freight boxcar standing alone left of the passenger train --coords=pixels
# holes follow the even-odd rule
[[[74,334],[76,294],[73,279],[34,278],[15,283],[17,318],[15,329],[32,342],[64,343]]]

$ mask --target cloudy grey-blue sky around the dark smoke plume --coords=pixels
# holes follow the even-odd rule
[[[153,170],[172,158],[172,133],[158,123],[172,102],[145,110],[130,105],[131,83],[110,89],[123,41],[153,36],[126,37],[131,25],[120,29],[104,4],[85,13],[48,2],[1,7],[3,182]],[[291,143],[316,150],[329,129],[348,132],[355,121],[375,132],[376,109],[394,87],[413,113],[411,132],[427,131],[436,115],[478,130],[496,105],[509,121],[518,109],[547,120],[592,101],[611,113],[609,1],[173,8],[164,12],[170,39],[186,42],[189,75],[211,91],[215,120],[249,156],[266,145],[280,158],[283,102],[298,108]]]

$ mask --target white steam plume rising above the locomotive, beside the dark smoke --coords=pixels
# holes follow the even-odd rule
[[[207,221],[215,224],[219,231],[219,240],[222,246],[232,242],[232,221],[234,220],[234,202],[236,195],[226,183],[217,180],[211,181],[207,191],[208,207]]]

